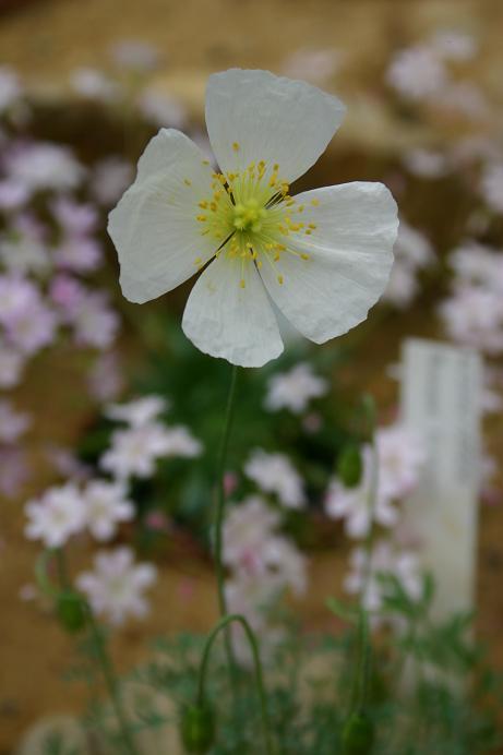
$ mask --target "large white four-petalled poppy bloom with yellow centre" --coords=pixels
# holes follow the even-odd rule
[[[243,367],[283,350],[271,300],[318,344],[364,320],[393,261],[391,193],[355,182],[289,194],[344,110],[316,87],[266,71],[212,75],[206,125],[220,172],[179,131],[151,141],[109,219],[124,296],[148,301],[204,268],[183,331],[202,351]]]

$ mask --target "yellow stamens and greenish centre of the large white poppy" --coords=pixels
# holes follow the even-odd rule
[[[232,149],[239,153],[238,142],[232,143]],[[188,179],[184,183],[190,185]],[[271,265],[282,285],[284,276],[276,266],[283,254],[309,261],[309,254],[296,251],[289,242],[292,235],[311,236],[316,226],[308,221],[309,217],[300,220],[302,213],[309,215],[309,207],[290,196],[279,165],[259,160],[236,172],[214,172],[212,192],[199,201],[194,217],[201,235],[215,239],[216,256],[225,254],[241,264],[241,288],[245,288],[247,264],[259,268],[264,263]],[[318,204],[318,200],[311,201],[312,206]],[[202,259],[196,257],[194,264],[200,268]]]

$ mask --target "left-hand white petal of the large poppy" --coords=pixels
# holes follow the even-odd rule
[[[197,202],[211,193],[212,168],[175,129],[161,129],[140,158],[137,177],[110,213],[122,292],[143,303],[176,288],[207,262],[218,241],[202,236]]]

